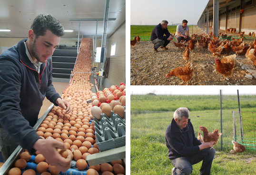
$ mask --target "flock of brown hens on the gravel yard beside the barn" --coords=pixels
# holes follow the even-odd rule
[[[183,59],[186,60],[187,65],[171,70],[168,74],[166,74],[166,77],[177,76],[183,80],[182,83],[187,82],[188,85],[188,81],[193,77],[193,62],[189,61],[189,54],[190,51],[193,51],[195,47],[198,50],[201,48],[208,49],[214,56],[216,56],[216,70],[218,73],[224,75],[224,81],[226,76],[233,74],[233,68],[236,64],[236,55],[245,54],[247,60],[251,63],[252,68],[255,69],[254,65],[256,65],[256,38],[254,39],[253,43],[249,43],[246,46],[246,43],[243,42],[243,35],[245,32],[237,32],[239,37],[238,39],[233,38],[231,35],[227,35],[227,32],[235,33],[235,29],[228,28],[226,29],[224,35],[219,33],[217,37],[215,37],[213,33],[210,32],[205,36],[193,34],[193,37],[191,37],[190,41],[187,43],[186,41],[181,43],[173,42],[173,44],[180,50],[185,47],[185,50],[183,51]],[[255,37],[255,33],[252,32],[251,34],[250,32],[249,36]],[[133,38],[133,40],[130,41],[130,45],[134,46],[137,42],[139,42],[139,40],[140,37],[137,35]],[[221,60],[217,58],[217,56],[221,54],[229,54],[230,52],[235,54],[225,56]]]

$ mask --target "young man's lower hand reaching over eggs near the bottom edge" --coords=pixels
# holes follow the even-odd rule
[[[51,138],[38,139],[33,148],[39,151],[51,166],[56,166],[61,172],[66,172],[71,167],[70,154],[64,158],[57,151],[57,148],[66,150],[65,145],[60,141]]]

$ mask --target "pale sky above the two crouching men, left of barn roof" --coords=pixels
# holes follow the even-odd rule
[[[157,25],[167,20],[168,25],[187,19],[188,25],[197,24],[209,0],[131,0],[131,25]]]

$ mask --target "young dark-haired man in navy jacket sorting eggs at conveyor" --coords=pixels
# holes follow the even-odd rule
[[[38,150],[62,172],[71,166],[70,155],[65,159],[57,152],[57,147],[65,150],[63,143],[40,139],[32,128],[45,97],[66,113],[71,110],[51,82],[49,57],[63,35],[64,28],[57,18],[41,14],[31,24],[28,39],[0,55],[0,146],[5,161],[20,145],[30,154]]]

